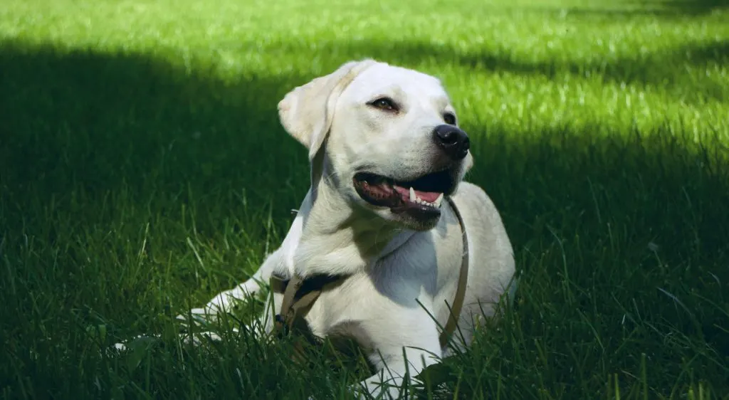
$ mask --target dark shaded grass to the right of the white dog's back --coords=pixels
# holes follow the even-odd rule
[[[535,372],[550,382],[550,393],[589,398],[620,371],[623,395],[636,398],[642,365],[652,396],[685,390],[677,377],[687,371],[712,393],[726,393],[729,214],[718,209],[729,204],[726,147],[687,150],[690,139],[667,126],[627,138],[614,132],[611,140],[592,137],[599,126],[567,125],[545,130],[537,143],[498,126],[487,131],[470,179],[502,211],[526,288],[515,306],[521,319],[504,337],[534,341],[531,356],[545,366]],[[511,321],[507,316],[502,326]],[[515,360],[529,353],[504,337],[482,342],[467,357]],[[491,393],[526,378],[510,362],[465,365],[472,369],[464,376],[490,371],[484,379],[494,383],[487,384]],[[590,389],[574,386],[585,380]],[[468,397],[462,382],[461,391]]]

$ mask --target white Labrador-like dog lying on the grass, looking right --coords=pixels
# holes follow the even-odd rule
[[[278,114],[308,149],[311,187],[260,269],[191,312],[225,312],[276,276],[346,277],[321,289],[303,319],[314,336],[351,337],[367,353],[377,373],[354,392],[397,397],[406,376],[467,348],[516,288],[499,212],[464,181],[469,137],[439,79],[372,59],[296,87]],[[445,345],[459,283],[458,334]],[[284,297],[273,293],[267,309],[281,310]],[[276,329],[274,315],[260,316],[262,334]]]

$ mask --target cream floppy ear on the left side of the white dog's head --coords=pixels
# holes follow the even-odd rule
[[[316,157],[332,125],[339,95],[375,60],[350,61],[331,74],[295,88],[278,102],[278,117],[289,135],[306,146],[309,160]]]

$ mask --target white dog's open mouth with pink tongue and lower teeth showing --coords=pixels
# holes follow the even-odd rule
[[[429,173],[414,181],[395,181],[375,173],[357,173],[354,189],[364,201],[389,207],[394,213],[408,212],[418,218],[440,216],[443,197],[455,186],[453,171]]]

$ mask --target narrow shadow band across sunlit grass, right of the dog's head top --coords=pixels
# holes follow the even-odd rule
[[[340,46],[336,43],[328,45]],[[327,48],[327,44],[321,44],[321,47]],[[524,56],[515,55],[508,49],[464,51],[426,42],[355,42],[341,44],[341,47],[362,57],[394,59],[410,65],[432,60],[435,65],[459,65],[475,71],[539,75],[549,79],[574,76],[607,84],[625,83],[645,90],[665,92],[672,98],[695,105],[706,101],[726,101],[729,98],[729,82],[726,79],[718,72],[712,76],[703,73],[708,67],[721,67],[729,63],[729,42],[725,40],[631,57],[596,58],[586,62],[565,59],[524,60]],[[692,68],[693,74],[688,74],[687,68]]]

